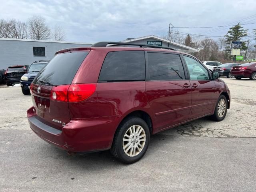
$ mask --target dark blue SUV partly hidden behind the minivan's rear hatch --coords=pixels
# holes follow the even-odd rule
[[[35,61],[32,63],[29,67],[26,73],[21,77],[20,80],[20,86],[22,93],[24,95],[30,94],[29,86],[44,66],[49,62],[50,60],[41,60],[41,61]]]

